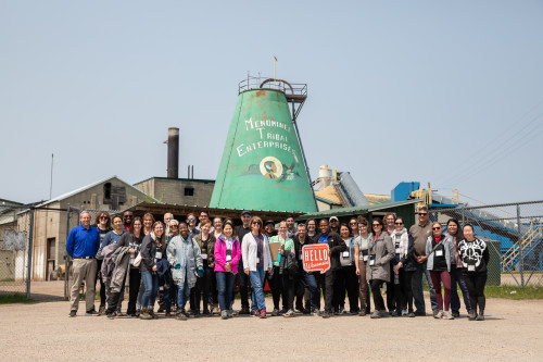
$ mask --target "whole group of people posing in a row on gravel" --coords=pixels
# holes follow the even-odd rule
[[[270,244],[277,252],[272,252]],[[303,247],[312,244],[328,245],[328,271],[304,270]],[[296,225],[292,216],[276,224],[245,210],[236,226],[231,219],[210,220],[206,211],[198,219],[191,213],[181,222],[172,213],[155,221],[150,213],[134,217],[131,211],[114,216],[102,211],[91,226],[91,215],[84,211],[80,225],[68,235],[66,251],[73,259],[70,316],[77,314],[79,286],[85,280],[86,315],[108,319],[152,320],[160,312],[181,321],[201,314],[219,314],[224,320],[236,314],[292,317],[296,310],[324,319],[344,313],[413,317],[426,315],[425,274],[435,319],[459,316],[458,285],[469,320],[484,320],[487,245],[475,236],[473,226],[462,228],[454,219],[446,223],[445,233],[440,223],[429,222],[426,208],[418,211],[418,224],[409,230],[393,213],[383,220],[372,217],[370,223],[363,216],[349,223],[332,216]],[[269,314],[266,279],[274,304]],[[236,282],[241,302],[237,312],[232,309]],[[126,283],[129,294],[124,314]]]

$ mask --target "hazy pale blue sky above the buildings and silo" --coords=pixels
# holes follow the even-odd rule
[[[0,199],[117,175],[215,179],[238,83],[307,84],[313,178],[543,200],[542,1],[0,2]]]

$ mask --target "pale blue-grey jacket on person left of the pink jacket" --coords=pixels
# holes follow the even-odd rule
[[[180,235],[174,237],[166,248],[169,265],[172,265],[172,278],[178,286],[187,284],[189,288],[197,284],[194,272],[202,267],[202,255],[198,242],[189,236],[184,239]],[[176,269],[176,265],[179,267]]]

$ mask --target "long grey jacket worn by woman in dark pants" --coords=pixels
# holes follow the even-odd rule
[[[366,279],[390,282],[390,261],[394,259],[395,250],[388,233],[381,233],[369,248],[369,260],[366,263]],[[371,258],[375,264],[369,265]]]

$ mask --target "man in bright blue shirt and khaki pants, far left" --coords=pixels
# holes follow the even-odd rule
[[[79,216],[81,225],[74,227],[66,240],[66,252],[74,259],[74,282],[71,292],[70,316],[77,315],[79,307],[79,286],[85,279],[87,288],[86,313],[85,315],[98,315],[94,311],[94,284],[97,276],[96,254],[100,247],[100,232],[90,226],[90,213],[81,212]]]

